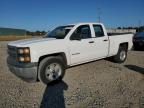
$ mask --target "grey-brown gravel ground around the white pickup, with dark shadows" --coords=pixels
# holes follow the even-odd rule
[[[66,70],[62,82],[27,83],[6,64],[0,42],[0,108],[144,108],[144,52],[131,51],[124,64],[99,60]]]

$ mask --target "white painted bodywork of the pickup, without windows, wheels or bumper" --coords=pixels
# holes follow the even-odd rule
[[[85,24],[90,25],[93,38],[82,39],[80,41],[70,40],[70,36],[76,28]],[[103,27],[104,37],[95,38],[93,24]],[[68,65],[72,66],[116,55],[120,43],[128,42],[128,49],[130,50],[133,46],[132,37],[133,34],[108,37],[106,29],[101,23],[78,23],[74,24],[74,27],[67,34],[65,39],[34,38],[10,42],[8,45],[29,47],[31,62],[38,62],[39,58],[44,55],[63,52],[66,55]],[[90,41],[94,41],[94,43],[89,44]]]

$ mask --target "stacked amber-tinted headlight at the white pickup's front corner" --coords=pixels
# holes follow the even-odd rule
[[[17,61],[18,62],[30,62],[30,49],[26,48],[18,48],[17,49]]]

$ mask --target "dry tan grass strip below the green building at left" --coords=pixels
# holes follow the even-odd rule
[[[27,38],[32,38],[32,36],[0,36],[0,41],[14,41]]]

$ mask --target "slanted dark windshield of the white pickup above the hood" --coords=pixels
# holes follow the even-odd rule
[[[65,36],[69,33],[69,31],[73,28],[73,25],[70,26],[60,26],[52,30],[48,33],[45,38],[56,38],[56,39],[64,39]]]

